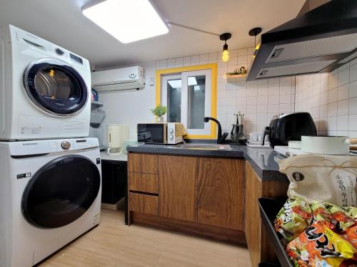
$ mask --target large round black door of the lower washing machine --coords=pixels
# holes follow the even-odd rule
[[[26,185],[22,212],[30,224],[56,228],[79,219],[93,204],[101,187],[96,164],[81,155],[53,159]]]

